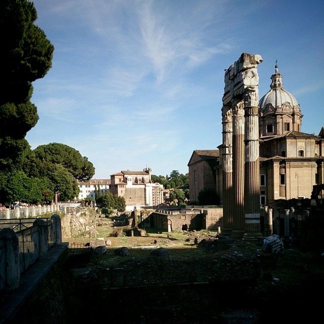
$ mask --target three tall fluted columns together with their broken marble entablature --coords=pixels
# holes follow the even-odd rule
[[[242,53],[225,71],[223,124],[224,231],[261,236],[259,185],[259,76],[257,54]]]

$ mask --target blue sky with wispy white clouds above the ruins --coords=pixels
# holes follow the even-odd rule
[[[224,69],[261,54],[260,98],[278,60],[297,98],[302,131],[324,126],[324,2],[35,0],[36,24],[55,47],[33,83],[34,149],[77,149],[95,178],[120,170],[188,172],[195,149],[222,141]]]

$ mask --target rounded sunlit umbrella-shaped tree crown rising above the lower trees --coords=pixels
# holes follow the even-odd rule
[[[88,157],[65,144],[50,143],[40,145],[34,149],[35,157],[42,161],[62,165],[76,180],[90,180],[95,174],[93,164]]]

